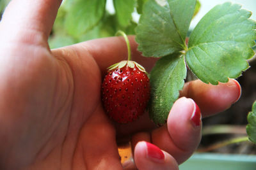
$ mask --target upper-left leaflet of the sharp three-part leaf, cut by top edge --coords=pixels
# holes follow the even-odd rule
[[[138,49],[161,57],[184,50],[196,0],[148,0],[136,28]]]

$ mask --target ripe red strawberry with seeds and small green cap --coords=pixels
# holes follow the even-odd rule
[[[145,112],[149,92],[149,80],[145,69],[134,61],[124,60],[111,66],[104,78],[104,109],[116,122],[132,122]]]

